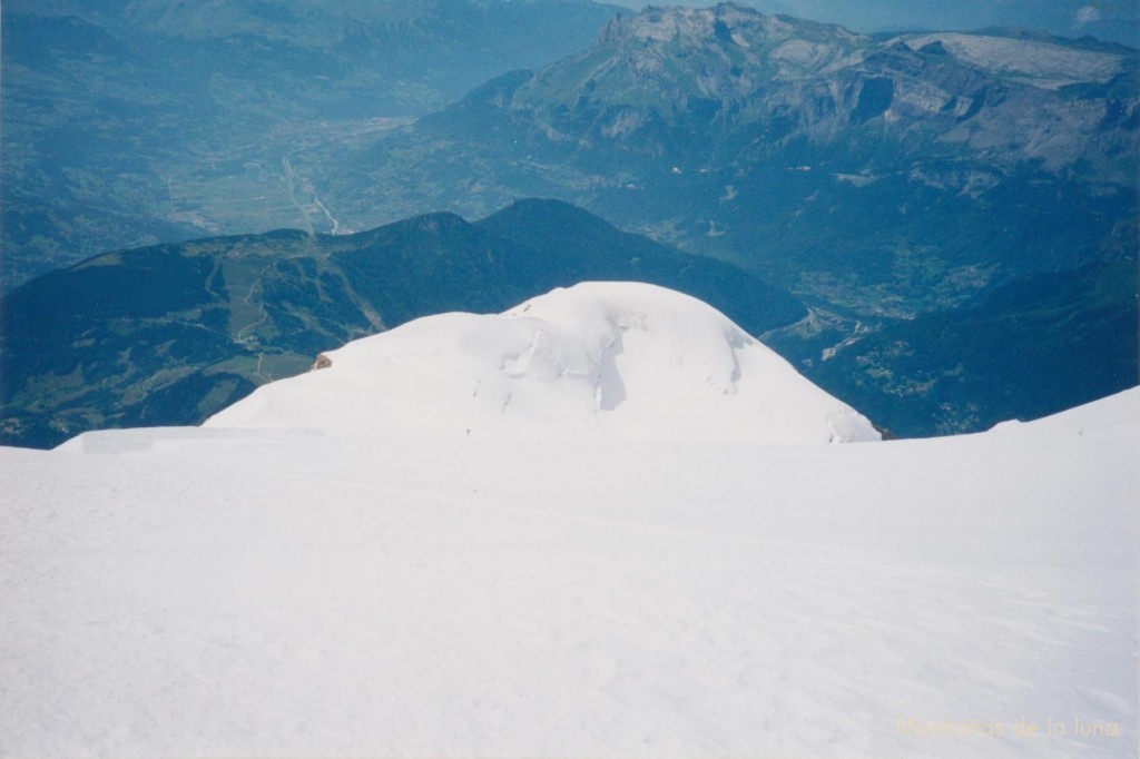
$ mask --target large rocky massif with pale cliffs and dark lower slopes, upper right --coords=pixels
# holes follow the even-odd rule
[[[804,297],[911,317],[1134,256],[1137,64],[1041,35],[878,39],[733,5],[653,9],[317,181],[350,226],[560,197]]]

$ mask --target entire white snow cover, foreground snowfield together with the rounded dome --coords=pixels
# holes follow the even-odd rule
[[[1138,390],[816,444],[861,417],[618,285],[329,358],[0,449],[0,756],[1135,756]]]

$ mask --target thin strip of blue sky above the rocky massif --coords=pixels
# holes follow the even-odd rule
[[[641,0],[613,0],[640,8]],[[1132,0],[736,0],[765,13],[842,24],[858,32],[985,26],[1040,28],[1062,36],[1092,34],[1102,40],[1135,44],[1140,10]],[[654,5],[715,5],[676,0]]]

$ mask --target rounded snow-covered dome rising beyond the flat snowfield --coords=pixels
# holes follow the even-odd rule
[[[708,304],[640,283],[445,313],[332,351],[210,427],[352,436],[878,440],[871,423]]]

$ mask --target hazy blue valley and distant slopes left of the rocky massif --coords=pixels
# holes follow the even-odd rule
[[[0,284],[132,245],[332,229],[296,153],[368,140],[576,52],[617,13],[586,0],[7,0]]]

